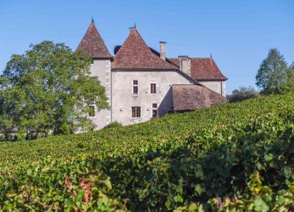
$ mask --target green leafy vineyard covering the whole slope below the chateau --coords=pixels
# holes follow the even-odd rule
[[[294,211],[294,95],[0,143],[0,211]]]

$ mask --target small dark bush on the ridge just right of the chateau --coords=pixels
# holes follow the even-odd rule
[[[248,88],[240,86],[239,90],[235,89],[234,91],[232,91],[232,95],[228,95],[228,101],[241,102],[249,98],[257,98],[258,96],[259,93],[258,91],[255,91],[253,86],[248,86]]]

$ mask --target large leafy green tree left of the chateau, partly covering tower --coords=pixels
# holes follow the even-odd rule
[[[108,108],[105,88],[90,77],[92,59],[64,44],[43,41],[12,55],[0,77],[0,129],[36,138],[94,128],[90,105]]]

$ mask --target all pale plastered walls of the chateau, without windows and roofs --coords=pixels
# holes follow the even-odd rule
[[[123,125],[148,121],[152,118],[152,104],[158,104],[158,117],[172,109],[172,85],[193,84],[188,77],[177,71],[122,71],[112,70],[110,60],[94,60],[90,67],[91,75],[97,76],[106,88],[110,110],[96,110],[90,117],[96,129],[103,128],[111,121]],[[133,80],[139,82],[139,95],[132,94]],[[156,84],[156,94],[151,94],[150,84]],[[213,91],[225,95],[225,81],[200,81]],[[223,91],[221,91],[221,89]],[[141,118],[132,118],[132,107],[141,107]]]

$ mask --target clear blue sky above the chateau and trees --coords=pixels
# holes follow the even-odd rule
[[[0,0],[0,73],[10,55],[43,40],[76,49],[91,17],[106,46],[123,44],[129,27],[147,44],[167,41],[167,57],[212,56],[229,78],[228,93],[255,84],[269,48],[294,61],[294,1],[6,1]]]

